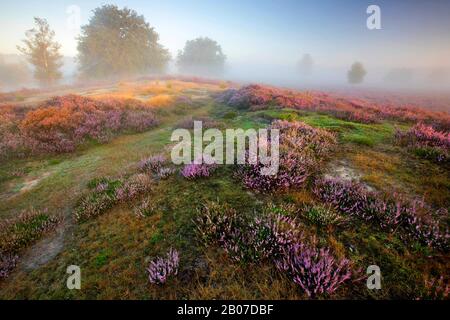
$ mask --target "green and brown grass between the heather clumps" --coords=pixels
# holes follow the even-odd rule
[[[132,95],[200,94],[193,106],[170,105],[157,109],[161,125],[140,134],[122,135],[108,144],[90,144],[73,154],[20,159],[0,164],[0,219],[14,217],[21,209],[48,208],[49,214],[71,217],[80,197],[100,177],[120,177],[135,170],[143,157],[169,152],[173,127],[187,115],[211,117],[224,128],[261,128],[273,119],[304,121],[337,134],[340,148],[335,157],[346,160],[376,189],[425,196],[436,206],[450,205],[449,172],[436,164],[402,153],[392,145],[397,123],[360,124],[315,112],[270,109],[255,112],[215,104],[203,95],[212,85],[183,85],[177,81],[122,83],[118,92]],[[37,184],[21,191],[30,179]],[[151,214],[134,213],[143,199]],[[327,210],[318,206],[309,188],[283,194],[261,195],[246,190],[233,177],[233,169],[219,166],[207,179],[188,181],[179,174],[161,180],[134,203],[115,205],[105,214],[78,223],[67,236],[64,249],[31,272],[17,269],[0,283],[4,299],[304,299],[306,296],[273,266],[239,265],[224,251],[205,247],[197,238],[194,218],[206,201],[220,201],[237,212],[252,215],[268,203],[293,206],[280,211],[296,217],[305,234],[317,237],[338,257],[348,257],[356,269],[370,264],[381,268],[382,290],[370,291],[364,280],[343,287],[332,298],[415,299],[428,278],[448,277],[448,254],[417,243],[406,245],[395,234],[381,232],[367,223],[342,217],[330,223]],[[313,208],[304,215],[302,208]],[[319,208],[319,209],[318,209]],[[327,209],[327,208],[325,208]],[[330,218],[333,222],[333,217]],[[150,285],[146,267],[170,248],[180,252],[179,275],[164,287]],[[66,268],[80,266],[82,290],[67,290]],[[324,297],[326,298],[326,297]]]

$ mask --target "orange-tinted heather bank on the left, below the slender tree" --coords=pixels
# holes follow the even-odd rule
[[[138,101],[76,95],[52,98],[23,117],[3,117],[0,148],[5,153],[72,152],[85,142],[105,143],[120,132],[140,132],[158,123],[154,112]]]

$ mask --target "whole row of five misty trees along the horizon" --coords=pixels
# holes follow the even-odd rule
[[[34,66],[34,78],[44,86],[61,79],[61,45],[54,39],[47,20],[34,18],[35,27],[26,32],[18,50]],[[116,5],[94,9],[88,24],[81,28],[78,41],[78,72],[82,78],[102,79],[150,72],[164,72],[172,59],[159,43],[159,35],[136,11]],[[182,73],[218,75],[224,70],[226,56],[221,46],[210,38],[186,42],[178,52],[176,65]],[[299,73],[312,73],[314,61],[305,54],[298,62]],[[351,84],[362,83],[367,71],[355,62],[347,73]]]

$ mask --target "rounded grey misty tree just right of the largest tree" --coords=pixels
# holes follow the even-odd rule
[[[223,72],[226,56],[220,45],[210,38],[197,38],[186,42],[178,53],[177,66],[181,72],[218,74]]]

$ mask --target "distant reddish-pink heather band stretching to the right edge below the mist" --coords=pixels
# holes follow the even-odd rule
[[[315,91],[299,92],[249,85],[240,89],[229,89],[218,95],[217,101],[235,108],[253,111],[271,107],[291,108],[324,112],[339,119],[360,123],[376,123],[385,119],[394,119],[426,122],[439,128],[450,128],[450,116],[446,112],[433,112],[403,104],[350,99]]]

